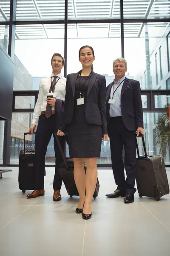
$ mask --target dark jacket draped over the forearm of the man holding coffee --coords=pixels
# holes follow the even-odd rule
[[[62,120],[64,118],[64,101],[61,99],[56,99],[55,105],[55,131],[57,132],[59,127],[62,125]]]

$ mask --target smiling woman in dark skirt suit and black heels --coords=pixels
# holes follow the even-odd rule
[[[68,131],[70,157],[74,159],[74,180],[79,192],[76,212],[91,218],[91,201],[97,181],[97,157],[102,140],[108,140],[106,123],[105,76],[93,72],[94,50],[90,46],[79,49],[82,70],[67,76],[65,119],[57,135]],[[84,163],[87,171],[85,174]]]

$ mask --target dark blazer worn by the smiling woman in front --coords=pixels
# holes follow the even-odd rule
[[[66,126],[71,123],[74,111],[74,95],[78,73],[67,76],[65,107],[62,126],[59,128],[66,131]],[[102,134],[107,134],[106,122],[106,80],[105,76],[92,71],[88,84],[87,98],[85,102],[85,118],[89,124],[102,125]]]

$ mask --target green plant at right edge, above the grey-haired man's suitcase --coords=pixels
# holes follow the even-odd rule
[[[161,156],[166,155],[166,151],[170,148],[170,120],[169,120],[169,106],[164,106],[165,111],[161,113],[156,123],[156,140],[159,145],[159,154]]]

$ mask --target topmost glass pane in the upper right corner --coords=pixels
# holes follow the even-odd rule
[[[169,18],[170,2],[168,0],[123,0],[124,18]]]

